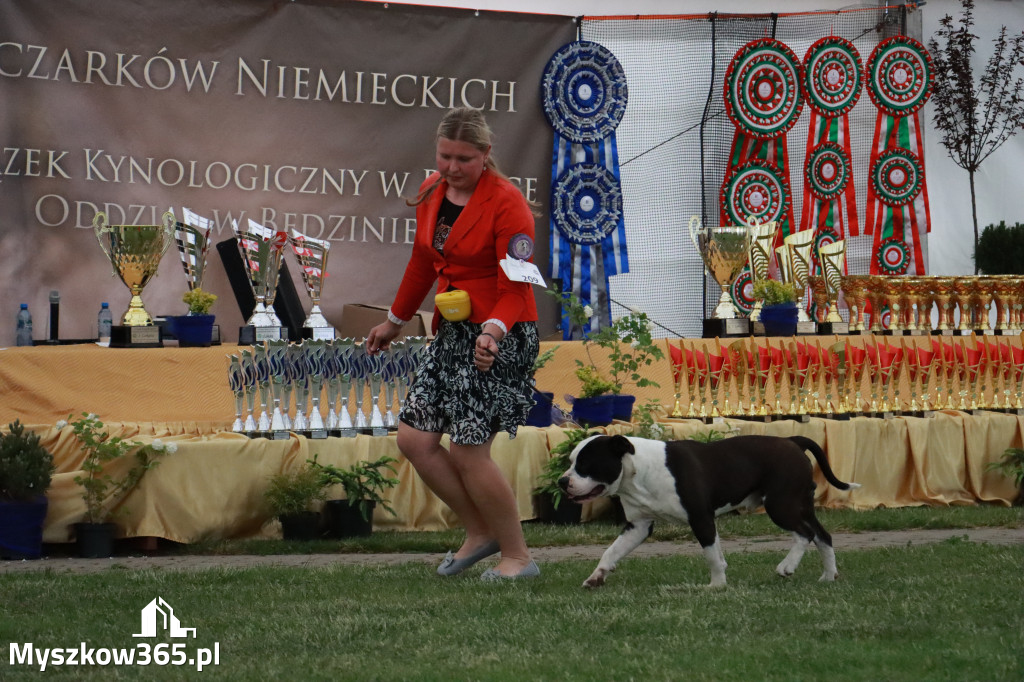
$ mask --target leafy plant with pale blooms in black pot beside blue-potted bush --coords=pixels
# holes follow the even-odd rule
[[[58,429],[67,425],[68,422],[57,422]],[[147,471],[160,463],[158,458],[161,455],[173,454],[177,445],[164,443],[159,438],[145,445],[111,436],[110,432],[102,430],[103,423],[93,414],[82,413],[82,418],[71,422],[71,426],[85,451],[83,473],[75,476],[85,502],[85,518],[73,524],[78,553],[90,559],[109,557],[114,552],[114,536],[118,527],[111,521],[113,508],[138,485]],[[133,451],[134,461],[128,464],[128,470],[117,476],[112,475],[110,471],[123,468],[122,462],[127,461]]]

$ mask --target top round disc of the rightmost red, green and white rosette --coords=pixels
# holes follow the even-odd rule
[[[880,111],[900,118],[918,112],[932,93],[932,57],[913,38],[883,40],[867,59],[867,85]]]

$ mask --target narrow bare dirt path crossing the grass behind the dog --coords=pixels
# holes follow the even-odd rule
[[[1024,530],[1021,528],[956,528],[937,530],[887,530],[878,532],[834,534],[833,545],[838,553],[852,549],[872,549],[925,545],[940,543],[957,538],[972,543],[992,545],[1024,545]],[[737,552],[776,552],[784,554],[793,545],[785,536],[742,538],[722,541],[722,549],[728,557]],[[579,545],[568,547],[538,547],[532,549],[534,558],[542,565],[550,561],[565,559],[592,559],[596,561],[605,546]],[[646,542],[630,555],[699,556],[700,547],[694,542]],[[34,561],[0,561],[0,573],[52,570],[56,572],[94,573],[111,568],[119,570],[204,570],[208,568],[248,568],[251,566],[305,566],[310,568],[332,565],[374,565],[420,562],[439,563],[441,554],[283,554],[273,556],[228,555],[228,556],[118,556],[110,559],[78,559],[69,557],[45,557]]]

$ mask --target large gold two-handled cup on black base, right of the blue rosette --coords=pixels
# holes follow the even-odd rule
[[[746,336],[750,334],[750,321],[736,316],[736,308],[732,305],[729,289],[736,281],[746,264],[751,242],[751,228],[743,227],[711,227],[701,226],[700,218],[690,218],[690,239],[700,254],[705,266],[722,288],[718,307],[711,318],[705,319],[703,336]]]

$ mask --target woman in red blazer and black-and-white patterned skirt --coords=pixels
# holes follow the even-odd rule
[[[388,322],[370,330],[367,350],[387,348],[437,283],[469,293],[466,321],[442,319],[417,369],[399,415],[398,449],[466,527],[466,540],[437,572],[453,576],[501,551],[484,580],[540,574],[519,523],[511,485],[490,459],[498,431],[515,437],[532,406],[529,383],[540,347],[528,284],[511,282],[499,262],[509,242],[534,239],[522,194],[496,167],[483,115],[456,109],[437,130],[437,172],[420,187],[413,255]],[[451,449],[441,446],[443,433]]]

